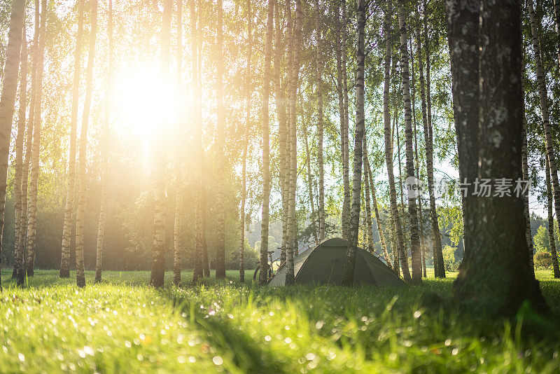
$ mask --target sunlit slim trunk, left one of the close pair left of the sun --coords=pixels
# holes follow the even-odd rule
[[[64,226],[62,228],[62,256],[59,277],[70,277],[70,237],[72,235],[72,216],[76,188],[76,132],[78,131],[78,99],[80,95],[80,67],[82,59],[84,1],[78,2],[78,34],[74,52],[74,77],[72,86],[72,111],[70,117],[70,145],[68,158],[68,188],[64,205]]]

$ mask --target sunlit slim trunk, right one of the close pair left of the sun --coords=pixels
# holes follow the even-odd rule
[[[85,101],[83,106],[82,127],[80,131],[80,153],[78,162],[79,198],[76,214],[76,284],[85,286],[85,269],[83,263],[83,226],[85,220],[85,202],[87,198],[86,163],[87,163],[87,126],[90,120],[90,108],[93,91],[93,64],[95,56],[95,39],[97,36],[97,0],[92,0],[91,6],[91,36],[87,55],[87,73],[85,78]]]

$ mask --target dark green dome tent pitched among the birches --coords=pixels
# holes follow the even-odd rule
[[[294,258],[296,284],[340,284],[342,269],[346,261],[346,240],[338,237],[323,240],[314,248],[298,254]],[[269,279],[269,286],[286,284],[286,265],[283,264]],[[383,261],[358,248],[354,268],[354,284],[374,286],[402,286],[405,282]]]

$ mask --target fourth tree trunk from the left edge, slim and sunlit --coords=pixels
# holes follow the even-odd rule
[[[29,211],[27,212],[27,258],[25,270],[28,277],[34,275],[35,231],[37,227],[37,192],[39,178],[39,151],[41,149],[41,99],[43,88],[43,65],[45,61],[45,34],[47,27],[47,1],[41,2],[41,29],[38,38],[37,86],[33,125],[33,149],[31,151],[31,173],[29,177]]]

